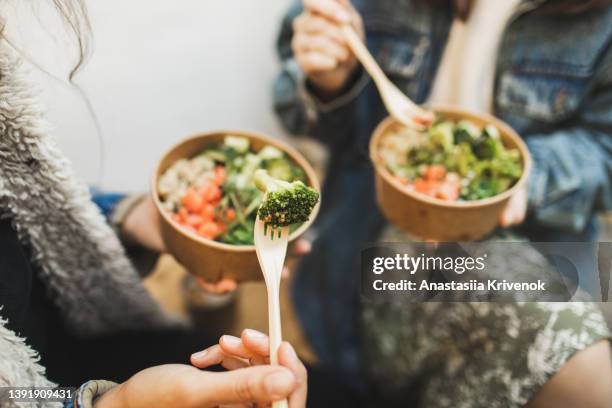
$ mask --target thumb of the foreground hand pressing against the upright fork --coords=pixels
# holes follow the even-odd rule
[[[297,385],[293,373],[279,366],[200,373],[203,378],[193,384],[191,391],[196,406],[279,401],[287,398]]]

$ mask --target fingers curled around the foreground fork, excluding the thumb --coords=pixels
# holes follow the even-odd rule
[[[256,330],[246,329],[240,338],[223,336],[219,344],[191,356],[191,363],[199,368],[220,364],[227,370],[245,370],[246,367],[271,367],[268,337]],[[293,347],[283,342],[278,350],[278,361],[293,374],[293,390],[286,396],[289,408],[306,406],[308,381],[306,368]]]

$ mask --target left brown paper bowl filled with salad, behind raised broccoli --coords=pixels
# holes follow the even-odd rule
[[[280,191],[264,201],[262,184]],[[160,161],[153,195],[169,252],[196,275],[215,281],[261,279],[253,245],[259,214],[296,239],[318,211],[319,182],[296,150],[252,132],[198,135]],[[286,199],[299,197],[287,208]],[[289,200],[292,204],[298,201]]]

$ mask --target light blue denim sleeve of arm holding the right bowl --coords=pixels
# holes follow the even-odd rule
[[[576,124],[526,137],[534,168],[532,215],[545,226],[581,232],[612,209],[612,52]]]

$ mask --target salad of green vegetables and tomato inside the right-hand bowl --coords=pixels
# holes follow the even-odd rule
[[[455,199],[479,200],[508,190],[523,173],[519,151],[504,146],[499,130],[493,125],[480,129],[468,120],[458,123],[440,120],[424,136],[404,150],[398,149],[397,143],[385,145],[384,139],[381,144],[381,156],[386,158],[389,171],[416,191],[439,198],[444,195],[440,186],[446,183],[459,189]],[[445,178],[428,178],[426,173],[440,165],[446,170]],[[459,184],[454,182],[457,177]]]

